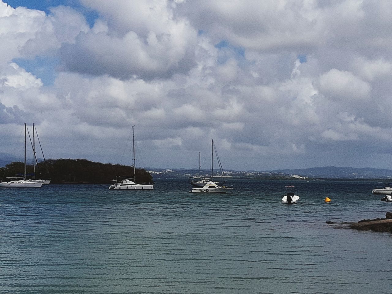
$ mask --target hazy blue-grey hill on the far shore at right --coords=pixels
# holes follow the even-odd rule
[[[309,178],[345,178],[345,179],[390,179],[392,171],[389,169],[374,169],[365,167],[356,169],[353,167],[312,167],[309,169],[279,169],[271,172],[283,174],[299,174]]]

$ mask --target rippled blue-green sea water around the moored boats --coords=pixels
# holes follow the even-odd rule
[[[294,184],[296,205],[281,203]],[[390,293],[376,182],[232,180],[227,194],[108,185],[0,189],[1,293]],[[328,196],[331,203],[325,204]]]

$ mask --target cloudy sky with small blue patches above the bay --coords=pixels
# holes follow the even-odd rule
[[[16,157],[35,123],[45,158],[131,165],[134,125],[140,167],[213,139],[224,169],[392,169],[391,102],[389,0],[0,0]]]

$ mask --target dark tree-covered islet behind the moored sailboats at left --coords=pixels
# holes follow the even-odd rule
[[[100,184],[110,183],[111,180],[116,179],[116,176],[133,177],[131,166],[91,162],[86,159],[49,159],[38,163],[35,171],[37,179],[51,179],[51,183]],[[0,167],[2,181],[17,174],[23,176],[23,173],[23,162],[11,162],[5,167]],[[33,174],[33,165],[26,166],[26,173]],[[144,169],[136,169],[136,182],[154,183],[151,174]]]

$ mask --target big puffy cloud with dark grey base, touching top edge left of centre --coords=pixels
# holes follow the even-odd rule
[[[99,11],[107,24],[98,20],[91,31],[62,46],[60,55],[68,70],[151,80],[186,73],[194,65],[196,30],[173,14],[170,2],[83,3]]]

